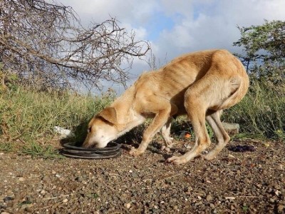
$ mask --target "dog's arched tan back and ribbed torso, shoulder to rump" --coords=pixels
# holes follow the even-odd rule
[[[185,91],[190,86],[195,88],[195,84],[214,84],[208,83],[204,78],[206,76],[215,76],[219,81],[224,80],[224,84],[229,84],[229,91],[219,93],[234,93],[237,90],[235,87],[242,81],[237,101],[247,92],[249,81],[242,63],[229,51],[209,50],[182,55],[157,71],[142,73],[135,83],[136,98],[142,100],[142,97],[152,95],[163,97],[175,103],[179,109],[177,114],[182,114],[185,113]],[[233,106],[237,101],[226,103],[224,108]]]

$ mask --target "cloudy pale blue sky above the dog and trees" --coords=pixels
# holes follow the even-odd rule
[[[180,54],[204,49],[240,53],[242,49],[232,46],[240,38],[237,26],[260,25],[264,19],[285,20],[285,0],[56,1],[73,7],[86,25],[110,16],[117,19],[121,27],[135,31],[136,39],[150,41],[157,67]],[[147,70],[150,66],[145,61],[135,59],[130,73],[138,76]]]

